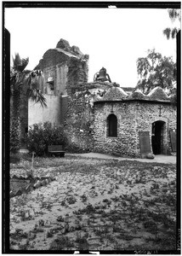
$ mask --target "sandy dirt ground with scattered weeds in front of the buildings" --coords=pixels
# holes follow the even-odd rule
[[[29,162],[11,166],[26,174]],[[175,250],[176,166],[84,157],[35,159],[55,180],[10,199],[13,250]]]

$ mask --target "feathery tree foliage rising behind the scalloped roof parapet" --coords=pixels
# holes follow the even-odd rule
[[[149,93],[156,86],[173,91],[176,83],[176,64],[172,57],[162,56],[155,49],[149,49],[147,56],[137,60],[139,82],[137,88],[144,93]]]

